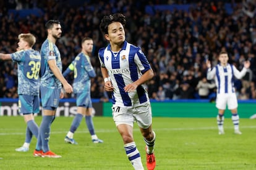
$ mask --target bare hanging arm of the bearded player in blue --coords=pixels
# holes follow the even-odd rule
[[[48,65],[49,65],[49,68],[51,69],[51,71],[53,71],[54,76],[56,76],[56,78],[58,78],[59,81],[61,81],[64,90],[67,93],[72,93],[73,88],[69,83],[67,83],[67,80],[62,76],[61,71],[59,70],[59,68],[56,65],[56,60],[49,60]]]

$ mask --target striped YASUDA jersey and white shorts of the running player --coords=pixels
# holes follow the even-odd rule
[[[106,48],[100,49],[98,55],[101,67],[108,70],[109,78],[114,87],[112,109],[116,124],[118,124],[117,122],[132,124],[135,119],[140,127],[150,126],[151,107],[145,85],[141,84],[134,92],[124,91],[127,84],[133,83],[151,68],[142,50],[124,41],[121,51],[111,51],[109,44]],[[140,107],[143,108],[143,113]],[[144,114],[150,114],[150,116]]]

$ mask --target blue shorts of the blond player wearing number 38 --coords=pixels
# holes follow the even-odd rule
[[[26,115],[30,113],[39,113],[40,99],[39,95],[19,95],[19,113]]]

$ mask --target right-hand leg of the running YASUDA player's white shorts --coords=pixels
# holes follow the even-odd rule
[[[135,107],[134,119],[137,121],[138,126],[142,129],[147,129],[152,123],[152,111],[150,103],[143,103]]]

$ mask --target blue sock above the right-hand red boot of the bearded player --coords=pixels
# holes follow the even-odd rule
[[[41,137],[41,148],[43,149],[43,152],[49,151],[49,135],[53,119],[54,116],[43,116],[43,120],[39,127],[39,135]]]

